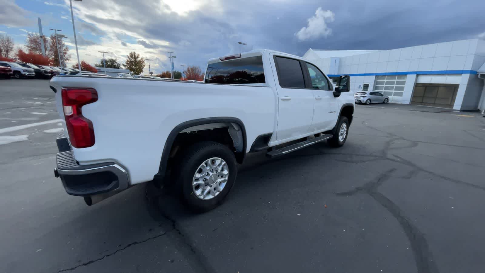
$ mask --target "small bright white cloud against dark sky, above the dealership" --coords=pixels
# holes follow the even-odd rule
[[[327,26],[327,22],[333,22],[335,14],[331,10],[318,8],[315,15],[308,18],[308,25],[301,28],[295,36],[300,41],[315,40],[320,37],[327,37],[332,34],[332,29]]]

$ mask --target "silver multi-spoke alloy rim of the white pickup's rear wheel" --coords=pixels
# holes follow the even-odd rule
[[[226,161],[212,157],[200,164],[192,180],[194,194],[202,200],[216,197],[227,184],[229,168]]]

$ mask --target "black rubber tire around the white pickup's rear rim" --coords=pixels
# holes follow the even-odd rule
[[[196,196],[192,187],[194,174],[204,161],[219,157],[226,161],[229,171],[226,185],[215,197],[203,200]],[[221,205],[234,186],[237,175],[237,163],[234,153],[225,145],[213,141],[201,141],[187,148],[178,161],[178,186],[184,203],[195,212],[209,211]],[[177,175],[177,174],[176,174]],[[174,175],[175,176],[175,175]]]

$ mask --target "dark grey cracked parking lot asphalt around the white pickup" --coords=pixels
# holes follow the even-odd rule
[[[248,154],[226,202],[192,214],[169,192],[147,201],[144,185],[91,207],[67,195],[53,95],[46,80],[0,81],[0,272],[485,268],[478,113],[356,105],[343,147]]]

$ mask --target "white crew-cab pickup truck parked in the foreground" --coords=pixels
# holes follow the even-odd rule
[[[210,59],[204,83],[66,75],[49,84],[67,132],[54,174],[88,205],[150,181],[210,210],[247,153],[342,146],[355,106],[349,76],[334,87],[315,64],[271,50]]]

